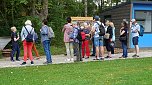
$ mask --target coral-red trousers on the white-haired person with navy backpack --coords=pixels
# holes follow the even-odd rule
[[[25,62],[27,61],[27,56],[30,58],[31,61],[33,61],[32,47],[33,47],[33,42],[26,42],[26,40],[23,41]]]

